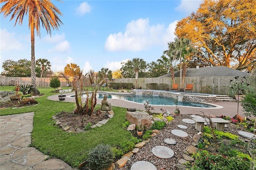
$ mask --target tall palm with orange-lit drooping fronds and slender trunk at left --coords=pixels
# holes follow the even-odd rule
[[[0,2],[6,2],[1,7],[0,13],[4,13],[5,17],[11,15],[10,20],[16,17],[14,26],[18,20],[18,24],[22,25],[24,15],[28,14],[31,37],[31,79],[33,88],[36,89],[35,29],[37,36],[40,37],[40,25],[42,25],[51,36],[51,28],[58,30],[63,24],[58,17],[58,15],[62,16],[62,13],[50,0],[1,0]]]

